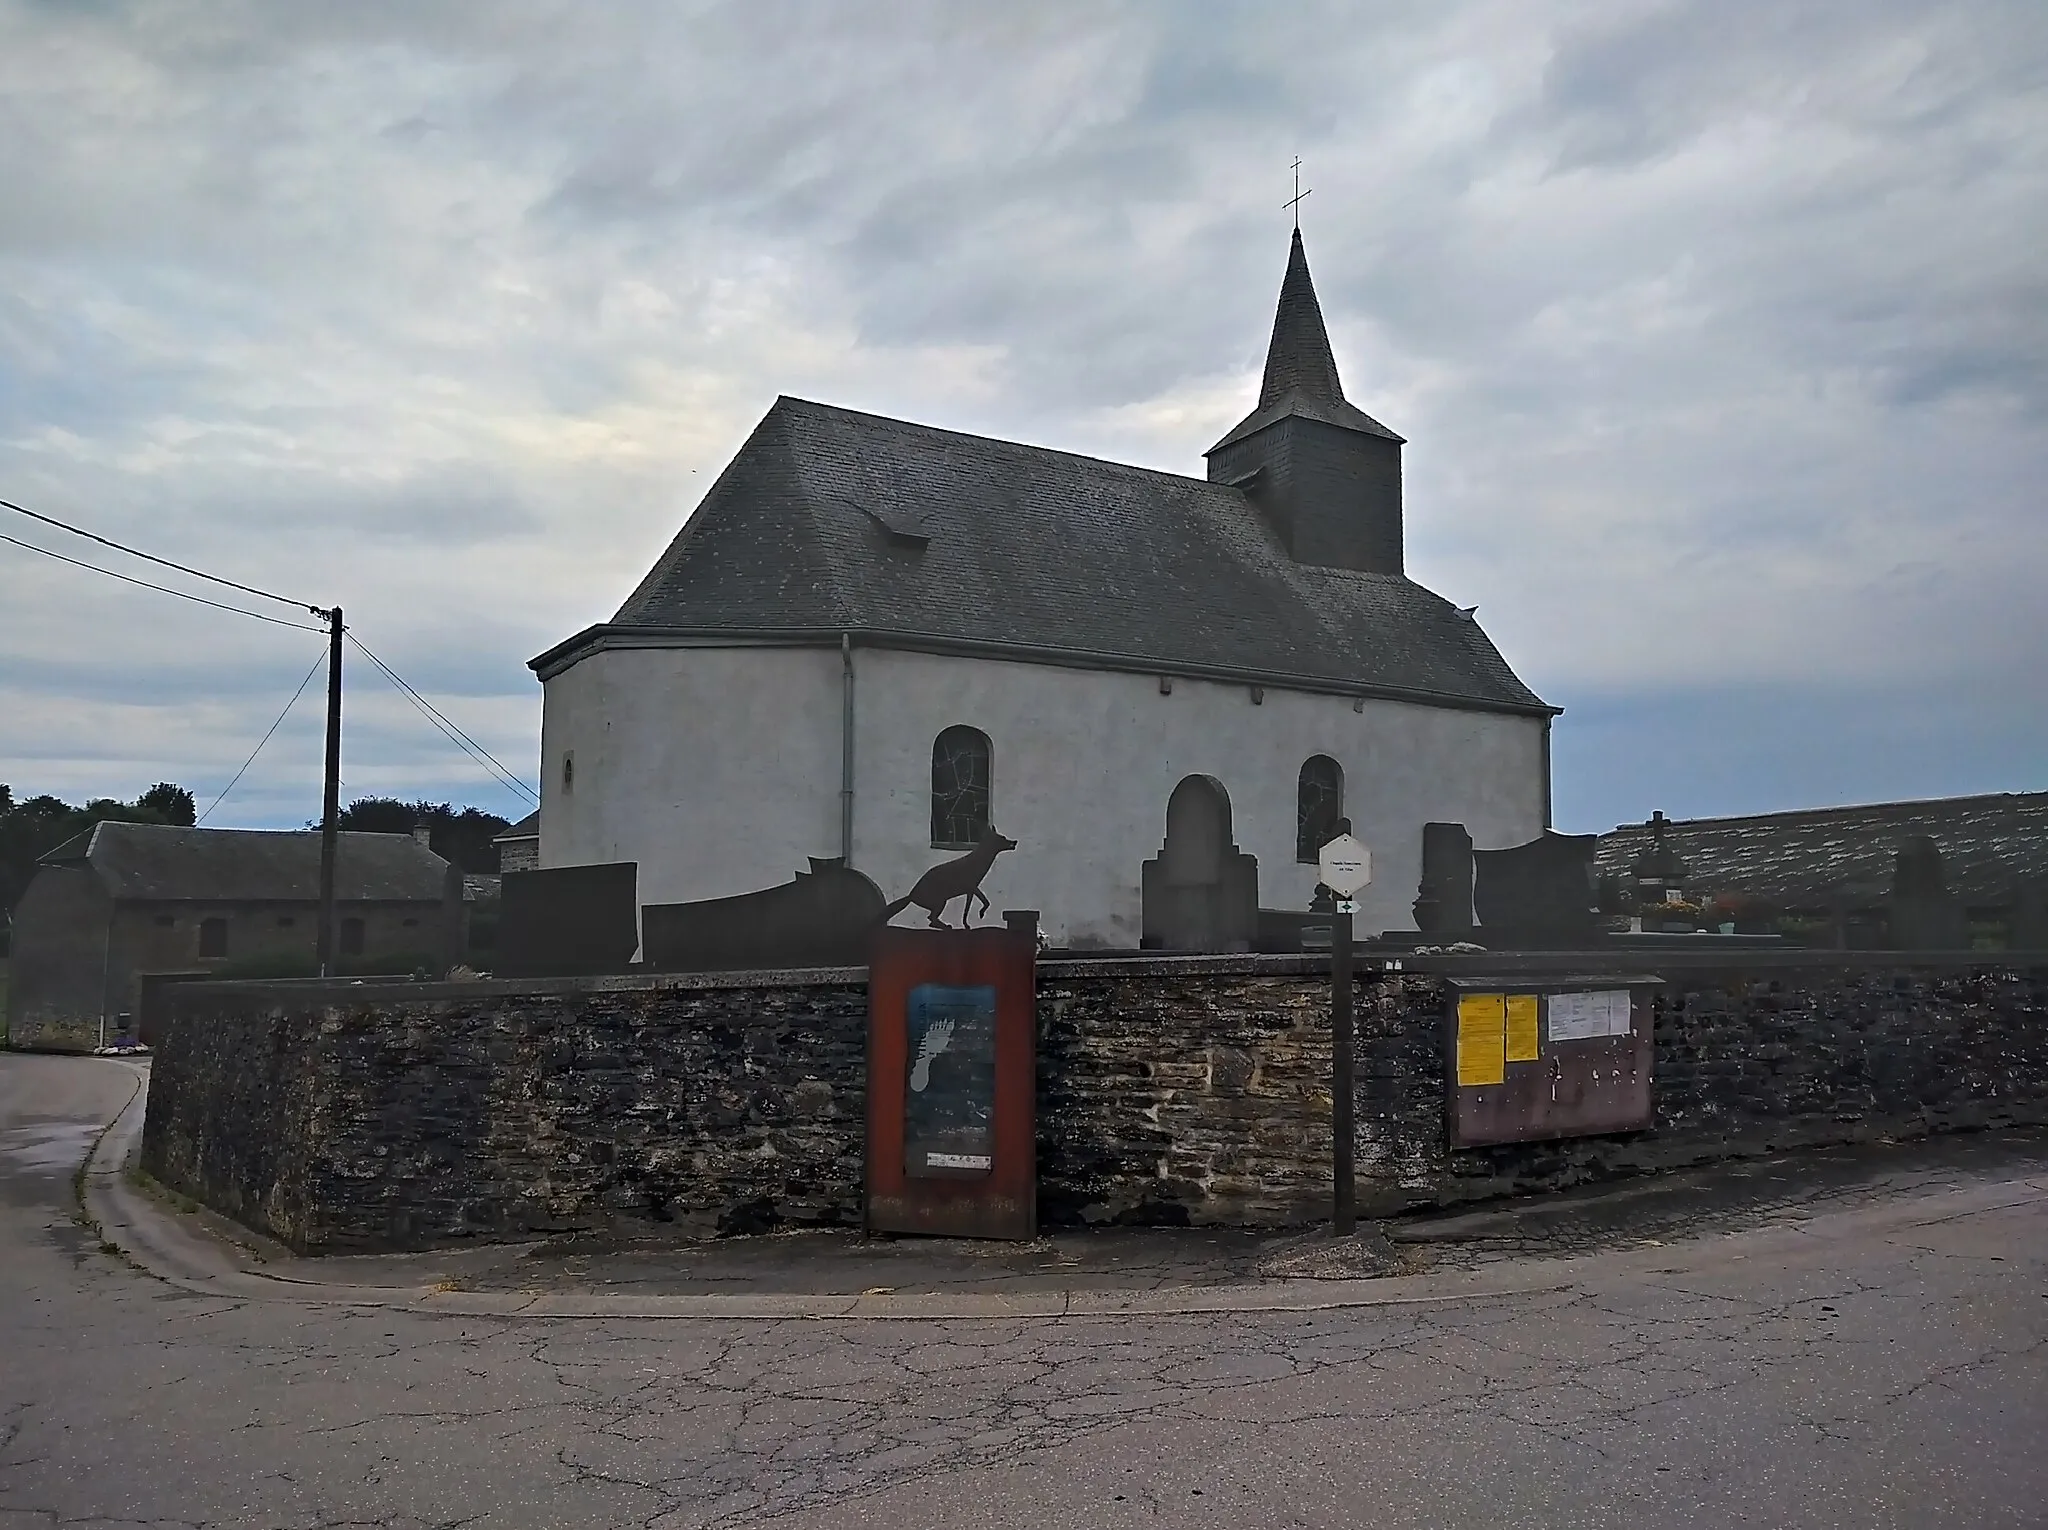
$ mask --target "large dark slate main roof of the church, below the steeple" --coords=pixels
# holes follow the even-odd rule
[[[602,627],[604,647],[831,641],[1550,713],[1397,573],[1292,561],[1204,479],[782,397]]]

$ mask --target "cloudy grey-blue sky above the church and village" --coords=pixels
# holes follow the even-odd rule
[[[0,0],[0,498],[340,600],[530,780],[776,393],[1200,473],[1296,154],[1561,827],[2048,787],[2040,0]],[[0,543],[0,780],[205,803],[319,647]],[[360,664],[344,778],[522,811]]]

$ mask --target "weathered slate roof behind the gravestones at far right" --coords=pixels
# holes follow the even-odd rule
[[[1898,844],[1915,834],[1939,846],[1966,903],[2003,903],[2015,879],[2048,877],[2048,791],[1677,819],[1665,844],[1686,862],[1688,889],[1827,907],[1837,887],[1858,903],[1882,899]],[[1626,879],[1649,844],[1647,823],[1624,823],[1599,836],[1597,868]]]

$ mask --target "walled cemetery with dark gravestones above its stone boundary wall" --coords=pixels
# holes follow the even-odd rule
[[[1368,1217],[2048,1120],[2048,954],[1954,944],[1939,856],[1913,836],[1886,948],[1647,930],[1599,913],[1595,854],[1554,834],[1475,852],[1430,825],[1417,928],[1343,952],[1327,887],[1294,950],[1063,952],[1034,909],[885,924],[879,893],[819,866],[764,889],[743,969],[715,959],[733,905],[641,909],[649,950],[664,930],[682,952],[664,969],[633,959],[631,864],[522,873],[518,977],[178,985],[143,1167],[295,1249],[371,1251],[606,1227],[1309,1225],[1331,1217],[1346,1114]],[[1642,907],[1690,891],[1669,846],[1636,860]],[[877,965],[817,959],[850,950]]]

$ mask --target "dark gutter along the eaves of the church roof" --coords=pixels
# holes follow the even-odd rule
[[[848,637],[840,629],[741,629],[741,627],[588,627],[565,643],[557,643],[526,662],[541,680],[553,680],[592,653],[606,649],[659,647],[838,647]],[[1110,670],[1114,674],[1178,680],[1214,680],[1233,686],[1274,686],[1311,696],[1341,696],[1346,700],[1405,700],[1417,707],[1450,707],[1468,713],[1509,713],[1513,717],[1559,717],[1565,709],[1542,700],[1499,700],[1493,696],[1421,690],[1372,682],[1346,682],[1335,676],[1286,674],[1278,670],[1239,670],[1223,664],[1190,664],[1141,653],[1098,653],[1094,649],[1044,647],[1038,643],[999,643],[991,639],[934,637],[928,633],[870,631],[860,635],[868,647],[907,653],[940,653],[950,657],[1008,660],[1012,664],[1047,664],[1063,670]]]

